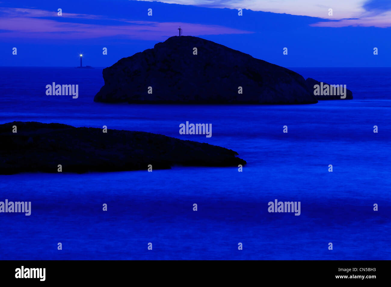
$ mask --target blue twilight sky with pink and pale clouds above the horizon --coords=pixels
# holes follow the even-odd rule
[[[0,0],[0,66],[77,66],[78,53],[86,65],[111,66],[177,35],[178,26],[285,67],[391,66],[391,0],[163,2]]]

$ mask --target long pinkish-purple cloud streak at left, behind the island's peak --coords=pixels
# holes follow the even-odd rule
[[[41,38],[41,39],[88,39],[108,36],[126,36],[133,39],[160,40],[172,35],[178,26],[186,26],[183,35],[249,34],[250,31],[233,29],[220,25],[204,25],[178,22],[123,21],[124,25],[95,25],[84,23],[58,22],[39,17],[54,17],[57,13],[38,9],[0,8],[5,17],[0,19],[0,27],[5,32],[2,38]],[[108,19],[89,14],[63,13],[64,18]],[[118,20],[118,19],[116,19]],[[145,33],[148,31],[148,33]]]

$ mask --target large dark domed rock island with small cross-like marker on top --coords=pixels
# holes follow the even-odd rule
[[[197,48],[197,55],[193,54]],[[174,36],[103,70],[95,102],[316,103],[289,69],[199,37]],[[152,93],[148,93],[152,87]],[[242,87],[242,94],[238,93]]]

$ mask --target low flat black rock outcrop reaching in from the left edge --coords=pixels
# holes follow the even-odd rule
[[[0,138],[0,174],[52,173],[59,164],[77,173],[246,164],[233,150],[148,132],[13,122],[0,125]]]

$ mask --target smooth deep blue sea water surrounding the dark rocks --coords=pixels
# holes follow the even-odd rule
[[[0,67],[0,123],[153,132],[224,146],[248,162],[241,173],[176,167],[0,175],[0,201],[32,202],[30,216],[0,214],[0,259],[391,259],[391,68],[292,70],[346,84],[354,99],[104,104],[93,102],[101,68]],[[78,84],[79,98],[47,96],[52,82]],[[211,123],[212,137],[179,135],[186,121]],[[275,199],[300,201],[301,215],[267,212]]]

